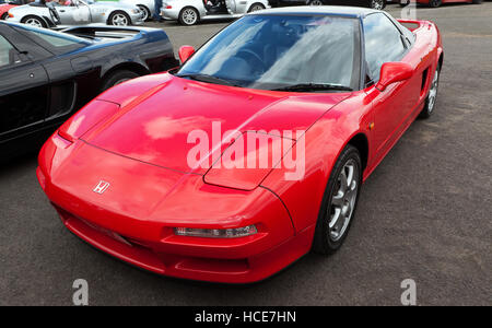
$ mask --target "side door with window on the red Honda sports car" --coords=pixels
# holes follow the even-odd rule
[[[374,153],[383,156],[400,136],[407,118],[418,102],[420,82],[411,78],[389,85],[379,92],[375,85],[385,62],[400,61],[409,50],[398,27],[383,13],[373,13],[363,20],[366,93],[374,110]],[[377,160],[376,159],[376,160]]]

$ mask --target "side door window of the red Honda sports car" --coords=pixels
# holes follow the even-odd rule
[[[383,63],[400,61],[406,49],[400,32],[385,14],[371,14],[364,19],[364,38],[368,75],[376,82]]]

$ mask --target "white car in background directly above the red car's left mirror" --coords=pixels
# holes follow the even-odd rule
[[[161,15],[183,25],[195,25],[206,20],[237,19],[267,8],[270,8],[268,0],[164,0]]]

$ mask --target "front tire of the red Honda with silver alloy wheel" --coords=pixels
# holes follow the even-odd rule
[[[349,167],[352,168],[350,169]],[[349,179],[351,174],[350,172],[352,172],[351,180]],[[343,179],[341,178],[342,175],[345,177],[345,180],[350,180],[344,184],[345,186],[350,185],[345,190],[350,189],[352,191],[341,191],[343,189]],[[315,236],[313,239],[313,250],[315,253],[330,255],[341,247],[355,216],[361,184],[361,155],[356,148],[349,144],[343,149],[337,160],[323,197],[318,221],[316,223]],[[340,202],[339,206],[337,206],[335,199],[338,199]],[[345,211],[345,214],[343,214],[343,211]],[[336,220],[336,218],[339,218],[339,220]],[[333,223],[342,223],[342,225]],[[336,234],[337,231],[338,235]]]

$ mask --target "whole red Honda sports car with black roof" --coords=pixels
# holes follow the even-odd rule
[[[229,283],[341,246],[361,184],[434,112],[443,66],[434,23],[343,7],[255,12],[179,56],[69,119],[37,177],[96,248]]]

